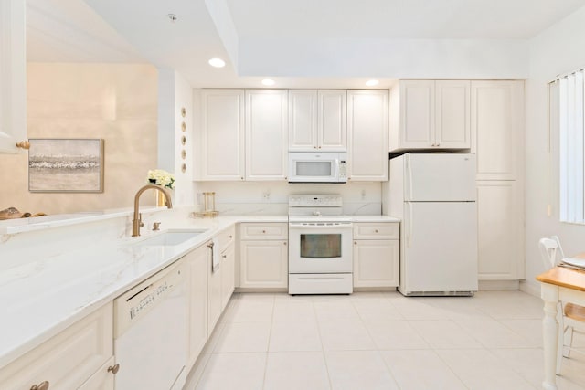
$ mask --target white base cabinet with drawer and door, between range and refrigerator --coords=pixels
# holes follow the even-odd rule
[[[398,223],[354,223],[354,287],[397,287],[399,253]]]

